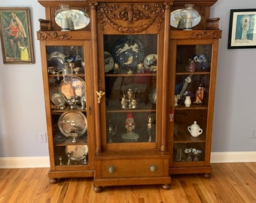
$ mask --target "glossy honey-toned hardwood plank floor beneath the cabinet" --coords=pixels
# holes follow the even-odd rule
[[[166,203],[256,202],[256,162],[212,164],[210,179],[203,175],[172,176],[169,190],[161,186],[109,186],[93,190],[92,178],[67,178],[49,184],[48,168],[0,168],[2,203]]]

